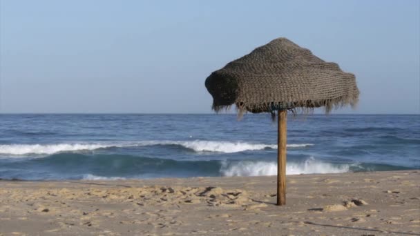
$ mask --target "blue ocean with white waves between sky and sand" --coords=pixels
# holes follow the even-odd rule
[[[420,168],[420,115],[287,121],[287,175]],[[0,115],[1,179],[276,175],[269,115]]]

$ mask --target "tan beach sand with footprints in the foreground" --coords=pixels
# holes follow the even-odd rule
[[[420,170],[0,181],[0,235],[420,235]]]

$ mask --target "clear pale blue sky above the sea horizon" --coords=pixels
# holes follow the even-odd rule
[[[353,72],[356,110],[420,113],[420,1],[0,0],[0,112],[211,112],[204,80],[287,37]]]

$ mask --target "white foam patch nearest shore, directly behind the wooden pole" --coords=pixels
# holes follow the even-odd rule
[[[349,168],[348,164],[333,165],[311,157],[300,163],[287,163],[286,175],[345,173]],[[220,173],[224,176],[277,175],[277,163],[271,161],[239,161],[232,165],[223,163]]]

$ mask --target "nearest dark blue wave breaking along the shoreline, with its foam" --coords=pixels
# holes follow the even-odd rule
[[[373,163],[336,164],[289,158],[287,175],[409,169]],[[119,180],[158,177],[218,177],[276,175],[276,161],[175,160],[134,155],[59,153],[42,158],[3,160],[0,179]]]

